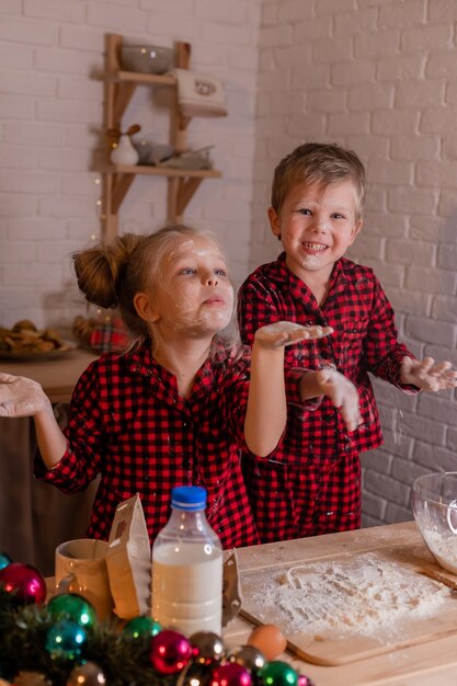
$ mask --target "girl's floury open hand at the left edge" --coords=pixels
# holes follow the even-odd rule
[[[49,408],[49,399],[39,384],[0,371],[0,416],[33,416]]]

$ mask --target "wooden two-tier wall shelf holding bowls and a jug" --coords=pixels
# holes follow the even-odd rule
[[[188,117],[181,116],[178,108],[176,79],[172,75],[147,75],[121,69],[121,47],[123,37],[106,35],[104,75],[104,129],[121,128],[122,118],[138,85],[165,85],[173,90],[173,104],[170,108],[170,145],[176,152],[187,149]],[[188,43],[174,44],[175,64],[188,69],[191,46]],[[137,175],[164,176],[168,180],[167,219],[179,221],[204,179],[218,179],[221,173],[214,169],[183,170],[170,167],[110,164],[111,147],[106,147],[106,164],[101,169],[102,238],[110,240],[118,232],[121,205]]]

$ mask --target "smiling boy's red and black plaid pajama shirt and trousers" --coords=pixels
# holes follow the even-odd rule
[[[243,458],[243,472],[262,541],[331,533],[359,526],[358,453],[382,442],[368,371],[407,392],[400,365],[412,356],[398,343],[393,310],[373,271],[339,260],[329,295],[318,306],[310,289],[290,272],[285,253],[260,266],[239,291],[244,343],[275,321],[325,324],[334,333],[286,348],[286,367],[300,376],[332,366],[358,390],[363,424],[349,434],[329,398],[289,404],[285,437],[267,459]]]

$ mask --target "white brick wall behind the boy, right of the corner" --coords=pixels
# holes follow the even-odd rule
[[[369,193],[351,255],[375,268],[411,350],[454,364],[456,25],[453,0],[263,3],[251,250],[251,268],[278,252],[265,209],[281,157],[307,140],[353,148]],[[362,459],[366,525],[411,518],[413,479],[457,469],[455,392],[375,392],[385,445]]]

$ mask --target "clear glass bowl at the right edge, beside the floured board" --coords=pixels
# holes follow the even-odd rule
[[[429,550],[441,567],[457,574],[457,471],[415,479],[411,505]]]

